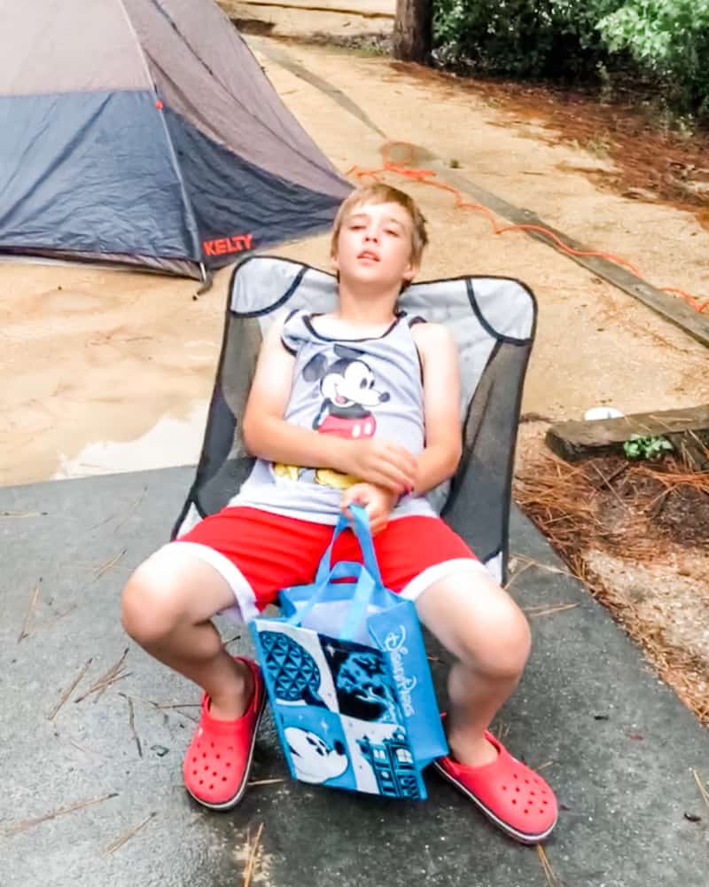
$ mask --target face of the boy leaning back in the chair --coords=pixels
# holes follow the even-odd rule
[[[412,234],[411,217],[398,203],[354,206],[342,220],[332,265],[343,281],[401,287],[417,272]]]

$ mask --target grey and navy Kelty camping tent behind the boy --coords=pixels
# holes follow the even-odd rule
[[[205,276],[349,185],[212,0],[0,0],[0,253]]]

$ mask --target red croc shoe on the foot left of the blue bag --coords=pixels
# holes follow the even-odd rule
[[[236,657],[253,674],[253,696],[241,718],[224,721],[209,713],[209,697],[202,696],[202,716],[184,757],[185,788],[195,801],[211,810],[230,810],[246,790],[253,746],[266,704],[259,666]]]

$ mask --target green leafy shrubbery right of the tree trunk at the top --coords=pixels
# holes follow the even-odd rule
[[[631,66],[709,116],[709,0],[435,0],[433,37],[443,64],[491,75],[597,82]]]

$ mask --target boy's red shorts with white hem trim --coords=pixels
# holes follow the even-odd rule
[[[206,517],[170,546],[189,545],[217,569],[234,592],[240,616],[248,621],[276,603],[282,588],[313,582],[333,529],[237,506]],[[386,587],[412,600],[443,576],[482,566],[439,517],[393,520],[374,538],[374,550]],[[340,534],[332,561],[362,562],[351,530]]]

